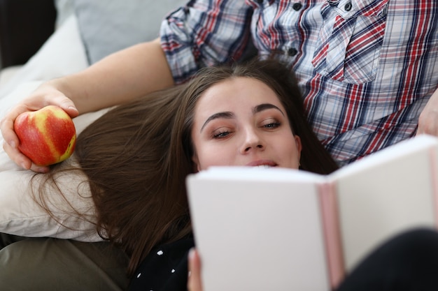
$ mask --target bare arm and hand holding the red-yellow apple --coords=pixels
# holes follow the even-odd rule
[[[116,52],[86,70],[48,81],[17,104],[0,122],[5,143],[3,149],[17,165],[36,172],[48,167],[33,165],[18,149],[13,130],[15,118],[22,112],[47,105],[62,107],[71,117],[123,103],[127,100],[169,87],[174,80],[160,40],[153,40]]]

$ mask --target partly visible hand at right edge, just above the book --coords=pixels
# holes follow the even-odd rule
[[[418,118],[417,135],[423,133],[438,136],[438,89],[430,96]]]

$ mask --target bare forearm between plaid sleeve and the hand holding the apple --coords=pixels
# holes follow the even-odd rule
[[[49,84],[69,97],[82,114],[169,87],[174,80],[156,39],[111,54],[81,73]]]

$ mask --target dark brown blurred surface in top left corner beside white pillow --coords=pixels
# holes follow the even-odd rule
[[[0,0],[0,68],[21,65],[55,31],[54,0]]]

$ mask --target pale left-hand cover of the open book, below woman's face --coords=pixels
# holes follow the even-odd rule
[[[204,291],[330,290],[317,180],[248,168],[190,176]]]

